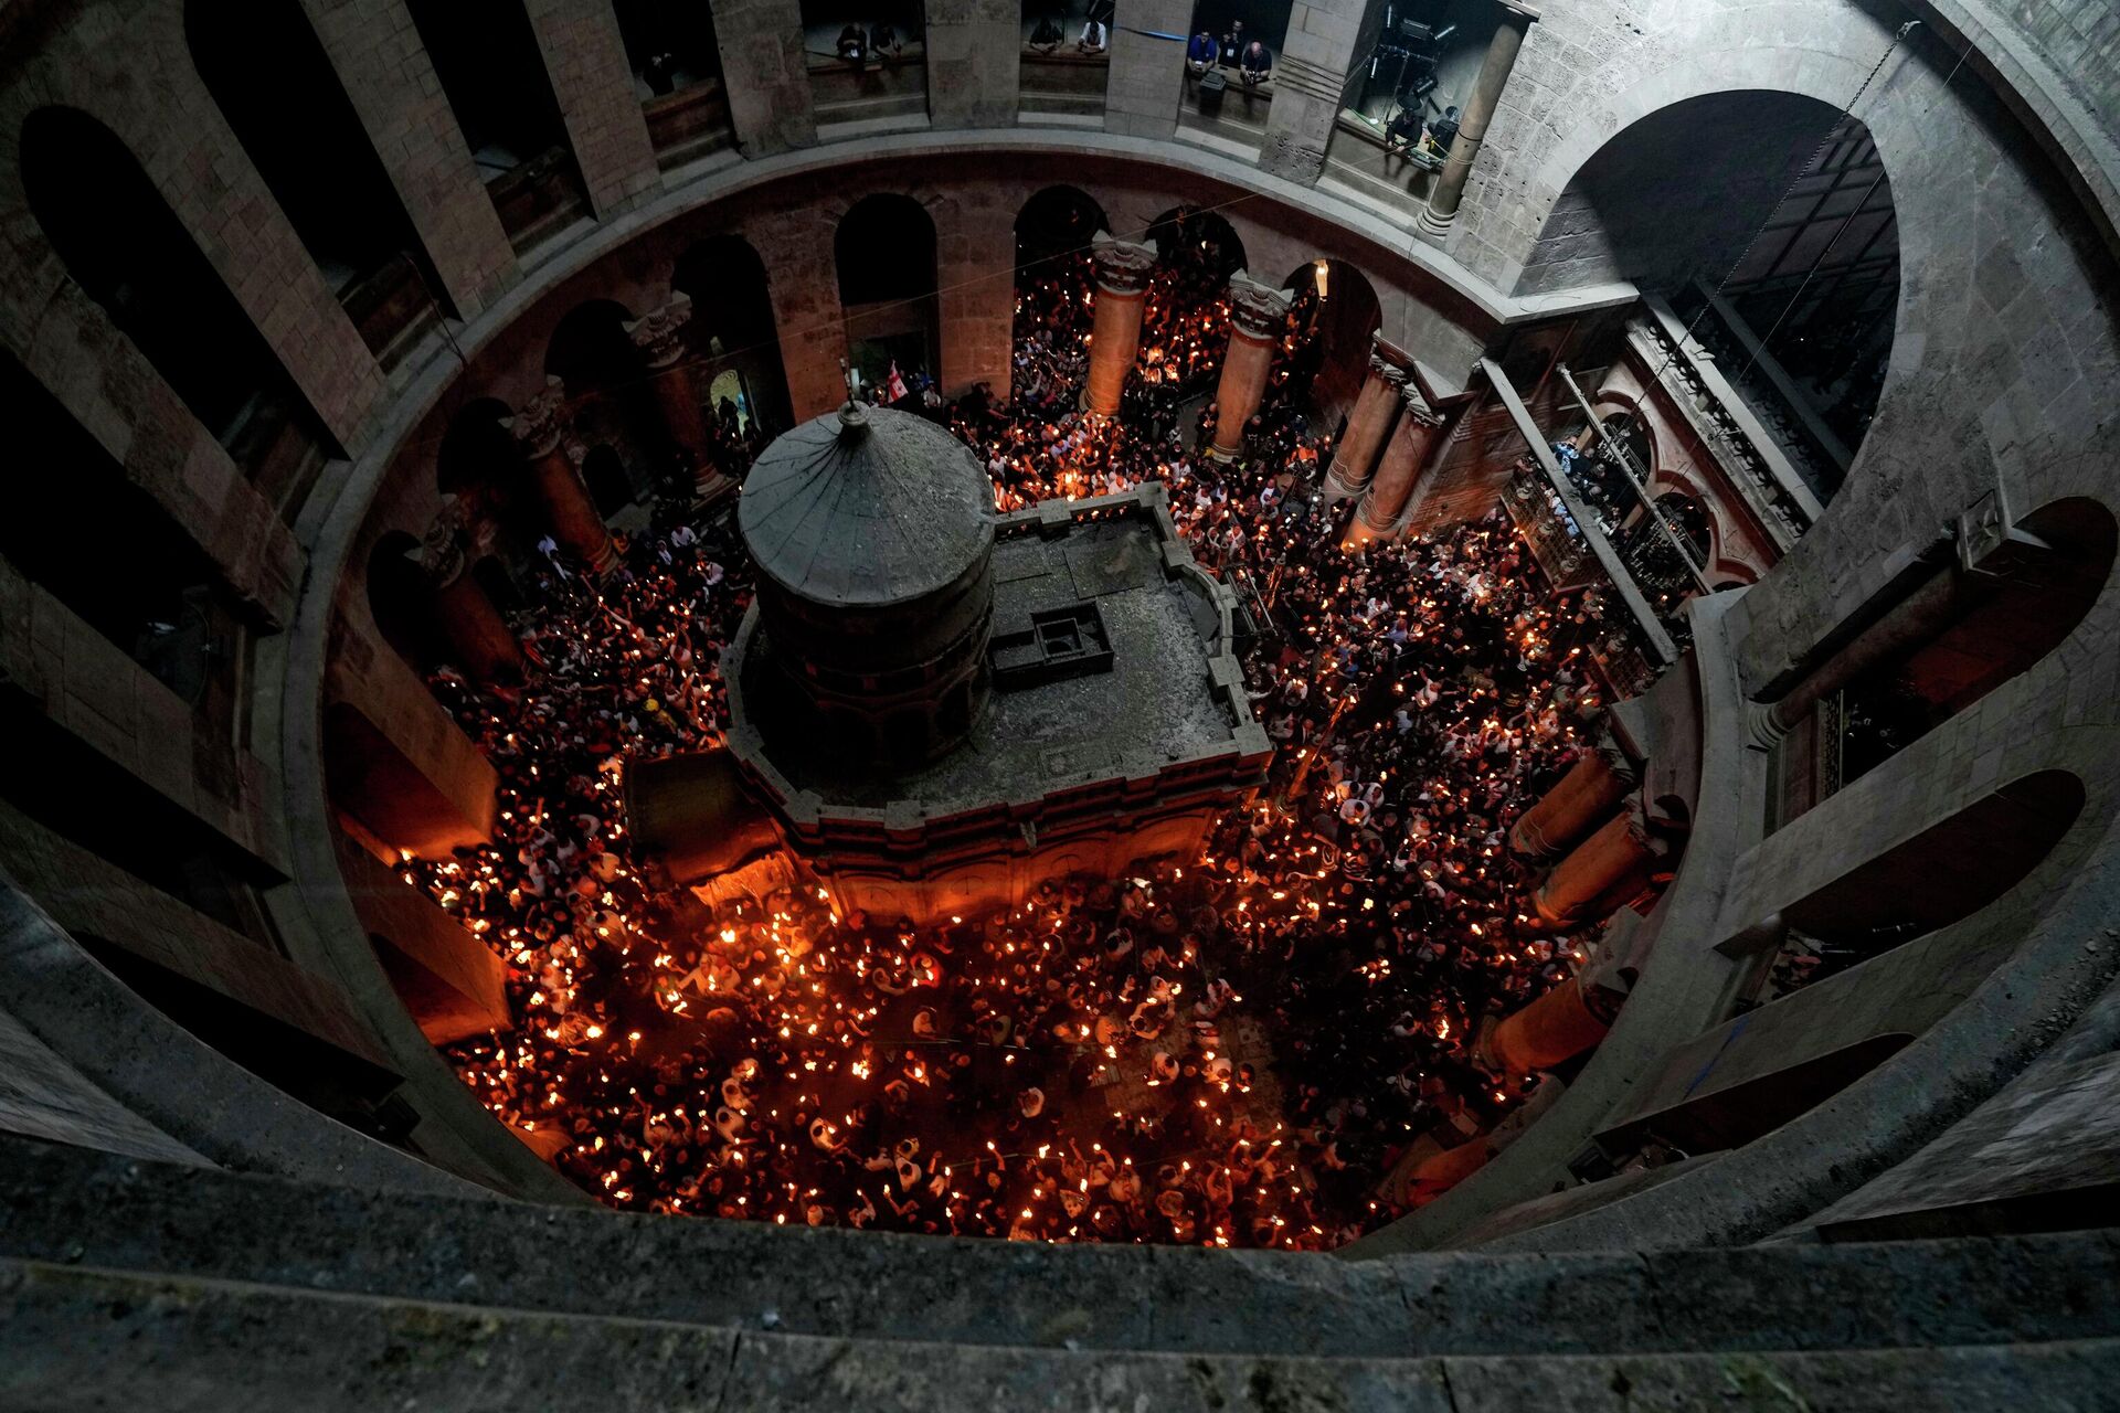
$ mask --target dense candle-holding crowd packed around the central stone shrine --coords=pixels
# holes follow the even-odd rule
[[[1158,366],[1196,388],[1219,352],[1196,256],[1177,244],[1158,275],[1119,417],[1075,411],[1079,256],[1026,271],[1015,396],[933,415],[1003,506],[1160,479],[1198,557],[1247,585],[1278,750],[1200,858],[941,928],[840,913],[799,866],[763,896],[655,888],[628,854],[625,763],[719,739],[719,650],[748,602],[727,517],[678,502],[602,580],[534,570],[519,688],[437,678],[500,773],[500,824],[405,877],[500,951],[517,1017],[452,1059],[585,1188],[774,1222],[1331,1248],[1423,1199],[1420,1152],[1535,1087],[1476,1040],[1594,943],[1531,915],[1503,845],[1601,710],[1573,646],[1592,614],[1539,585],[1499,513],[1342,551],[1302,311],[1244,455],[1204,460],[1213,405],[1136,396]]]

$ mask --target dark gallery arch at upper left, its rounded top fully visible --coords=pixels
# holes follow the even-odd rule
[[[66,273],[282,513],[329,436],[119,138],[72,108],[21,125],[21,180]]]

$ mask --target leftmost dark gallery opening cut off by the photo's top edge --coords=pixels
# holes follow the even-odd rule
[[[445,294],[307,15],[295,0],[187,0],[184,40],[324,284],[394,362]]]

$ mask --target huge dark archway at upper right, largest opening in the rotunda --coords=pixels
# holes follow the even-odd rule
[[[1518,292],[1598,280],[1666,297],[1813,494],[1838,489],[1900,303],[1891,180],[1857,119],[1747,89],[1637,121],[1560,193]]]

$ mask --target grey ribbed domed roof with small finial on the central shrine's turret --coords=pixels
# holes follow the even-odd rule
[[[736,523],[759,574],[816,604],[899,604],[956,583],[994,544],[971,447],[926,417],[842,407],[765,447]]]

